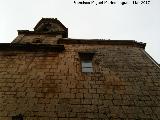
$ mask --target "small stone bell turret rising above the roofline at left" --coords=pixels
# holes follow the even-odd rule
[[[59,38],[68,38],[68,28],[57,18],[42,18],[34,31],[18,30],[18,36],[12,43],[56,44]]]

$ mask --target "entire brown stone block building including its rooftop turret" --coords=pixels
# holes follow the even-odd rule
[[[158,120],[160,67],[133,40],[70,39],[42,18],[0,43],[0,120]]]

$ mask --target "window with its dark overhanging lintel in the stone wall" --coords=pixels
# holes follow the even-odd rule
[[[94,54],[95,52],[79,52],[82,72],[84,73],[93,72],[92,58]]]

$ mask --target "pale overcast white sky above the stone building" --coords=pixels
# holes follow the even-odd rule
[[[147,43],[160,63],[159,12],[160,0],[0,0],[0,43],[14,40],[17,30],[32,31],[41,18],[57,18],[69,38]]]

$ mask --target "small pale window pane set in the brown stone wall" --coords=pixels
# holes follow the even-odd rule
[[[81,61],[82,72],[93,72],[93,66],[91,60],[83,60]]]

